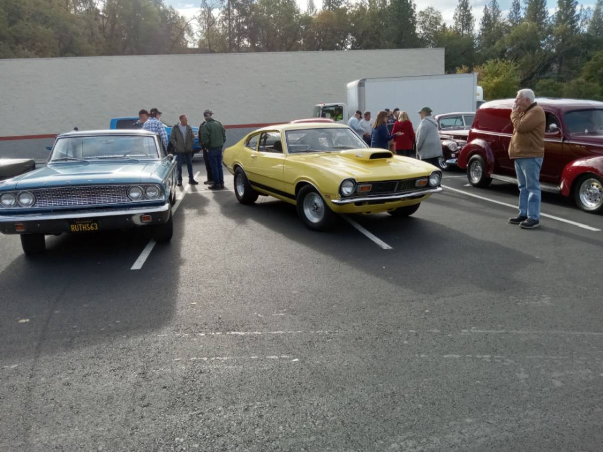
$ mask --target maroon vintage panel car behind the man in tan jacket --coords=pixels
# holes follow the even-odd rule
[[[475,187],[493,179],[517,183],[507,149],[513,133],[514,99],[487,102],[479,108],[467,145],[456,164],[467,169]],[[586,212],[603,212],[603,102],[536,99],[546,113],[542,190],[573,196]]]

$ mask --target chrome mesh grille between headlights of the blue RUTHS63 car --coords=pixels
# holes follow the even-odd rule
[[[31,190],[36,196],[34,207],[99,206],[124,204],[128,198],[127,185],[57,187]]]

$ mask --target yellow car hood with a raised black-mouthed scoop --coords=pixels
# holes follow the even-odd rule
[[[393,155],[387,149],[346,149],[321,154],[298,154],[296,157],[318,171],[332,171],[359,182],[420,177],[437,169],[421,160]]]

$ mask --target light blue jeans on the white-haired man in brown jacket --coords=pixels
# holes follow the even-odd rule
[[[515,159],[519,187],[519,215],[540,220],[540,168],[542,157]]]

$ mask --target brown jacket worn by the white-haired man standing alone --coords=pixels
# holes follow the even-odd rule
[[[526,157],[545,156],[545,112],[536,102],[523,113],[511,112],[513,136],[509,142],[509,158],[524,159]]]

